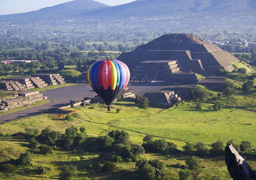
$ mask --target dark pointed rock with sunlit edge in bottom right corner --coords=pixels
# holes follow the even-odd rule
[[[256,172],[251,169],[231,144],[225,147],[225,161],[233,180],[255,180]]]

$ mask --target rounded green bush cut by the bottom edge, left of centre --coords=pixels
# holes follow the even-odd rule
[[[75,165],[63,165],[61,168],[60,179],[70,180],[73,177],[77,177],[77,167]]]

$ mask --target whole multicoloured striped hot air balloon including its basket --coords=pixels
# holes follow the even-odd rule
[[[89,67],[87,79],[110,111],[113,101],[127,86],[130,71],[126,64],[119,60],[99,60]]]

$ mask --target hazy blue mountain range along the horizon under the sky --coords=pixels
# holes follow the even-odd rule
[[[56,20],[68,18],[126,19],[160,18],[220,18],[256,16],[255,0],[137,0],[119,6],[108,6],[92,0],[75,0],[28,13],[1,15],[1,19],[28,18]]]

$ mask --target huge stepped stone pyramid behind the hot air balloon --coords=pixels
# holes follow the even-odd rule
[[[132,52],[122,53],[118,58],[131,71],[131,79],[170,81],[170,74],[179,79],[190,79],[183,72],[198,73],[203,76],[216,75],[219,68],[232,71],[230,64],[239,59],[223,51],[214,44],[191,34],[165,34],[137,47]],[[186,77],[184,77],[186,76]],[[184,84],[190,84],[184,83]]]

